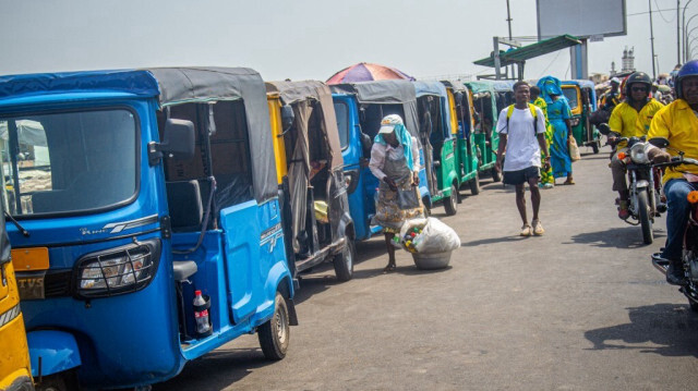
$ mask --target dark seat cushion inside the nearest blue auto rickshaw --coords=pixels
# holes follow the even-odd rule
[[[204,217],[198,182],[167,182],[167,204],[174,231],[197,231]]]

